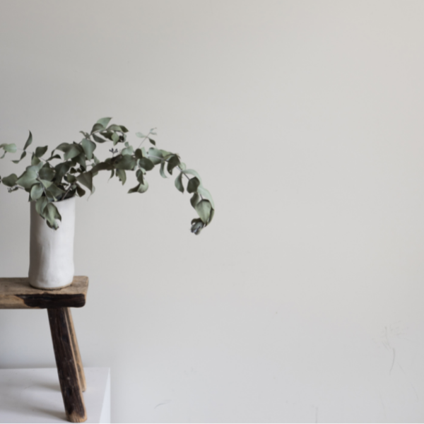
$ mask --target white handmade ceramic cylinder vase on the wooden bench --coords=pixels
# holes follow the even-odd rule
[[[30,204],[30,285],[43,290],[66,287],[73,281],[75,197],[54,203],[61,215],[57,230],[38,215],[35,201]]]

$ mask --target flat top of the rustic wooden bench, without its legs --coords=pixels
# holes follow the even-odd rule
[[[0,278],[0,309],[55,309],[86,305],[88,277],[73,277],[71,285],[59,290],[40,290],[28,278]]]

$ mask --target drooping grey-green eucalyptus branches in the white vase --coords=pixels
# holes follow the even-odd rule
[[[19,163],[27,153],[30,154],[31,163],[21,175],[11,174],[7,177],[0,176],[0,182],[8,187],[9,192],[23,189],[29,194],[29,200],[35,201],[37,213],[44,218],[50,228],[59,228],[61,216],[55,202],[69,199],[73,196],[82,197],[86,191],[94,193],[93,178],[100,171],[110,172],[110,177],[118,178],[122,184],[126,182],[127,172],[135,172],[137,184],[129,189],[129,193],[144,193],[148,189],[147,172],[154,167],[159,168],[160,175],[164,178],[172,176],[175,172],[175,187],[179,192],[185,190],[191,194],[190,203],[198,217],[192,220],[192,232],[199,234],[201,229],[211,223],[215,205],[211,194],[204,188],[201,177],[192,169],[187,169],[181,162],[177,153],[156,148],[153,136],[154,128],[148,134],[136,133],[141,139],[139,146],[134,148],[127,141],[128,129],[123,125],[110,124],[111,118],[99,119],[90,133],[80,131],[83,139],[76,143],[61,143],[54,148],[49,156],[46,155],[48,147],[37,147],[35,151],[28,151],[33,143],[30,132],[23,149],[18,149],[14,143],[0,144],[0,156],[4,158],[7,153],[21,151],[19,159],[12,160]],[[145,141],[151,143],[146,149]],[[112,143],[109,157],[101,161],[95,155],[98,144]]]

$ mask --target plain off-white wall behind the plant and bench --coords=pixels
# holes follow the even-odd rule
[[[424,420],[423,1],[0,1],[0,142],[112,116],[198,170],[78,201],[83,360],[115,422]],[[22,168],[19,168],[19,170]],[[18,167],[1,161],[0,175]],[[1,276],[29,207],[0,187]],[[0,367],[54,366],[45,311],[0,311]]]

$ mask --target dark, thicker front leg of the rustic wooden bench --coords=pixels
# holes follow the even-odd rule
[[[83,392],[78,379],[78,370],[73,358],[66,309],[64,307],[47,309],[47,313],[49,314],[54,356],[56,358],[66,417],[71,423],[83,423],[87,419],[86,406],[84,405]]]

